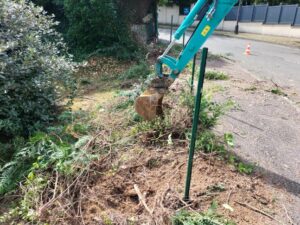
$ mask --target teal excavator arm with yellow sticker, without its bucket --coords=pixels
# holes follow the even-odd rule
[[[237,0],[199,0],[174,33],[173,40],[163,55],[158,58],[157,75],[163,76],[162,65],[166,65],[171,70],[169,77],[176,79],[236,3]],[[199,24],[178,59],[167,55],[176,41],[195,22],[198,15],[200,17]]]

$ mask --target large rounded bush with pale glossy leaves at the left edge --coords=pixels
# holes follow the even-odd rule
[[[74,91],[74,64],[53,17],[25,0],[0,0],[0,138],[29,136],[55,120]]]

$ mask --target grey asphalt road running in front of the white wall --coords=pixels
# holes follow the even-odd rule
[[[186,33],[186,40],[191,32]],[[159,29],[159,38],[170,39],[169,29]],[[182,41],[179,41],[182,43]],[[251,45],[251,55],[244,54]],[[282,87],[300,90],[300,49],[266,42],[211,36],[204,45],[213,54],[222,54],[239,63],[260,79],[273,80]]]

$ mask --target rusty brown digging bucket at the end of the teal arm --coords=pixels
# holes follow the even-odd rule
[[[173,80],[155,78],[148,89],[135,100],[135,111],[145,120],[153,120],[163,114],[162,101]]]

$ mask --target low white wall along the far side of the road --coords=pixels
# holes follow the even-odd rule
[[[159,7],[158,23],[171,24],[171,16],[173,15],[173,24],[180,25],[184,16],[179,16],[179,7]],[[196,25],[197,22],[194,23]],[[234,31],[235,21],[223,21],[217,30]],[[290,25],[266,25],[262,23],[239,23],[239,31],[245,33],[254,33],[262,35],[275,35],[285,37],[300,38],[300,27],[292,27]]]

